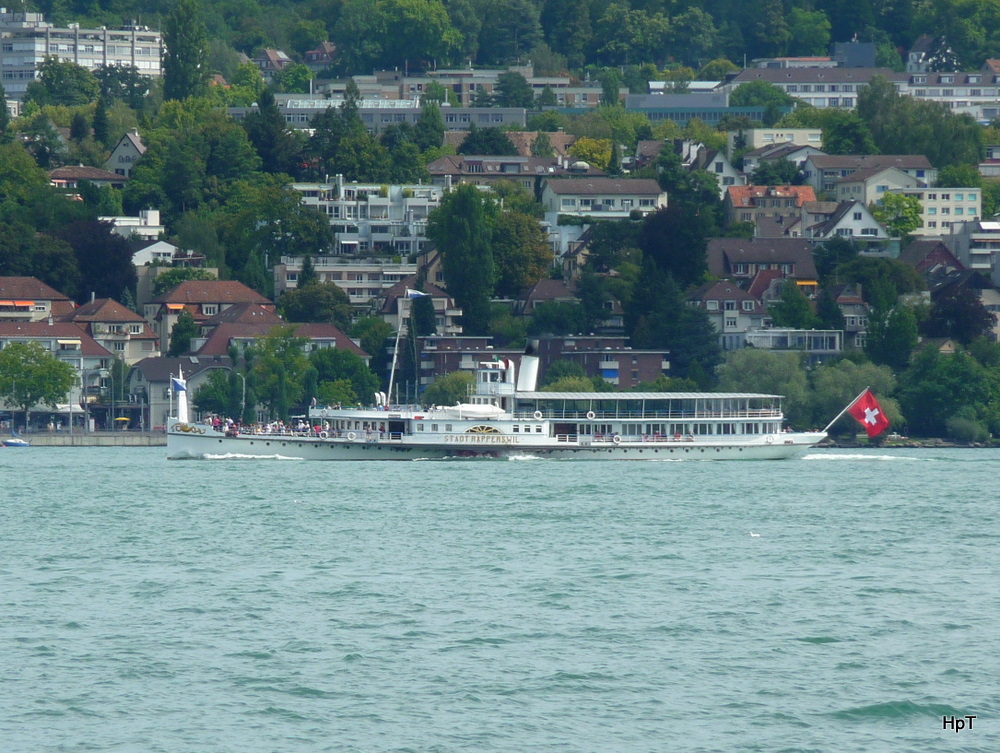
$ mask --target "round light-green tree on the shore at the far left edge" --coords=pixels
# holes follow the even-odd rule
[[[54,408],[65,401],[75,377],[72,366],[37,342],[11,342],[0,350],[0,399],[24,411],[25,426],[35,405]]]

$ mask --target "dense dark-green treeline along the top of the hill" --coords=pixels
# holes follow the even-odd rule
[[[40,0],[56,24],[159,26],[168,0]],[[962,65],[978,67],[1000,47],[1000,6],[990,0],[204,0],[212,64],[232,50],[277,47],[293,57],[320,42],[338,46],[336,72],[374,67],[420,70],[525,61],[549,69],[678,63],[715,58],[822,55],[831,41],[857,37],[898,63],[921,33],[937,35]],[[946,41],[945,41],[946,40]],[[234,67],[234,66],[233,66]]]

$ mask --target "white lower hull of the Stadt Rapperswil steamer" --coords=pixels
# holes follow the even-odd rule
[[[174,460],[274,458],[288,460],[435,460],[538,457],[570,460],[781,460],[812,447],[826,435],[780,433],[754,437],[660,439],[618,437],[570,441],[512,434],[450,434],[438,437],[367,438],[240,434],[227,436],[204,424],[173,422],[167,455]]]

